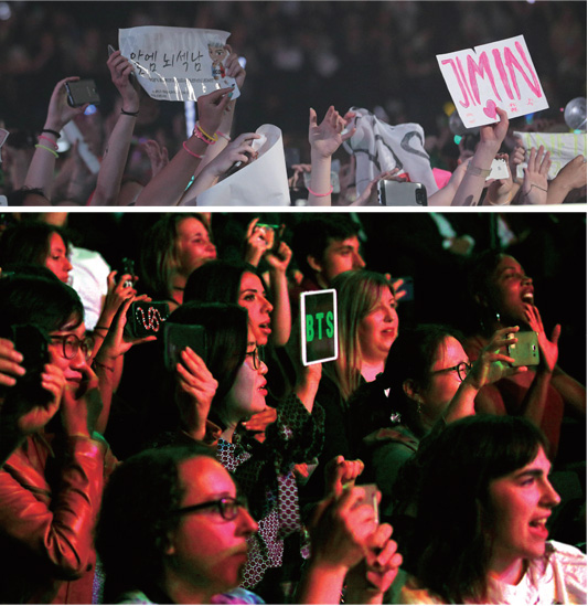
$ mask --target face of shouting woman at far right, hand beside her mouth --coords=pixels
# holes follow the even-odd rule
[[[526,325],[525,307],[534,304],[533,280],[520,263],[503,255],[490,279],[492,311],[503,316],[509,325]]]

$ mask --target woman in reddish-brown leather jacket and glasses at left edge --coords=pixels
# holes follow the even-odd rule
[[[13,276],[0,279],[0,307],[2,337],[12,340],[11,328],[33,325],[41,334],[36,355],[43,340],[47,352],[36,378],[21,375],[3,389],[3,419],[35,405],[57,408],[0,470],[0,550],[10,554],[2,564],[0,602],[90,604],[92,533],[107,448],[93,433],[101,401],[88,363],[82,302],[53,277]],[[30,360],[23,360],[24,369]]]

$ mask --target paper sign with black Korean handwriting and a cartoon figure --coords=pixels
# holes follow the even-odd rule
[[[133,65],[147,94],[158,100],[196,100],[235,85],[225,74],[231,34],[220,30],[146,25],[118,30],[120,52]]]

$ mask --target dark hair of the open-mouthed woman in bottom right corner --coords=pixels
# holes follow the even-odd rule
[[[528,465],[545,436],[516,416],[475,415],[448,425],[417,454],[417,578],[448,603],[483,604],[492,556],[489,488]]]

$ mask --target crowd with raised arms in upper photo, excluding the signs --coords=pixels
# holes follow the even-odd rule
[[[122,2],[110,8],[106,15],[96,2],[2,6],[0,119],[10,136],[2,148],[0,193],[11,194],[10,205],[197,205],[199,194],[235,162],[252,161],[253,132],[263,124],[282,132],[290,178],[286,203],[378,204],[377,181],[404,180],[407,171],[382,166],[375,179],[360,182],[355,155],[342,146],[353,132],[352,107],[385,124],[423,127],[424,150],[440,171],[429,205],[586,201],[582,156],[548,180],[549,155],[525,149],[513,136],[569,131],[562,109],[586,95],[581,2]],[[229,100],[225,91],[201,97],[199,127],[188,140],[183,104],[156,102],[135,89],[125,57],[108,59],[118,29],[138,25],[231,32],[226,73],[242,95]],[[436,55],[520,34],[550,109],[511,124],[499,114],[495,125],[456,143]],[[101,104],[90,115],[82,114],[85,107],[61,107],[64,84],[74,77],[97,83]],[[316,108],[310,120],[309,107]],[[97,174],[83,161],[79,145],[61,152],[60,132],[70,121],[100,162]],[[509,177],[487,183],[482,176],[499,153],[507,160]],[[516,176],[523,162],[528,163],[524,179]],[[35,192],[28,195],[23,188]],[[238,199],[222,202],[239,204]],[[260,191],[258,203],[272,202]]]

